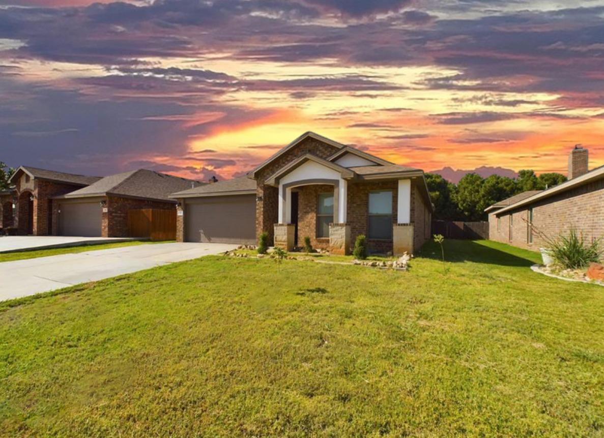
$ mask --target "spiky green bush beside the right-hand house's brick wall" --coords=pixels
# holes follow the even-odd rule
[[[547,243],[551,258],[564,269],[586,268],[591,262],[598,263],[602,259],[602,240],[588,242],[576,228],[571,228],[567,236],[560,234]]]

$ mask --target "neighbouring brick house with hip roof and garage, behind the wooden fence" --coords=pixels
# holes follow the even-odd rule
[[[128,211],[176,211],[170,193],[201,183],[139,169],[99,179],[94,184],[53,198],[52,234],[62,236],[130,236]]]

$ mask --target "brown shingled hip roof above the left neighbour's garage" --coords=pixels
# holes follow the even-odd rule
[[[180,178],[178,176],[166,175],[153,170],[139,169],[130,172],[109,175],[98,180],[88,187],[80,188],[67,195],[57,198],[87,198],[89,196],[126,196],[128,198],[158,199],[161,201],[173,201],[169,199],[170,193],[190,188],[191,185],[201,184],[193,179]]]

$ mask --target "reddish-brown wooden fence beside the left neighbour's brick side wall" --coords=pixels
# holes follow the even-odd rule
[[[176,209],[128,211],[130,237],[146,237],[151,240],[176,240]]]

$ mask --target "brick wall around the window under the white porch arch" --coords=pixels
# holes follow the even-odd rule
[[[310,237],[313,248],[329,248],[329,237],[316,237],[316,207],[319,193],[333,193],[333,185],[304,185],[298,187],[298,246],[304,245],[304,237]],[[334,209],[337,208],[334,206]]]

